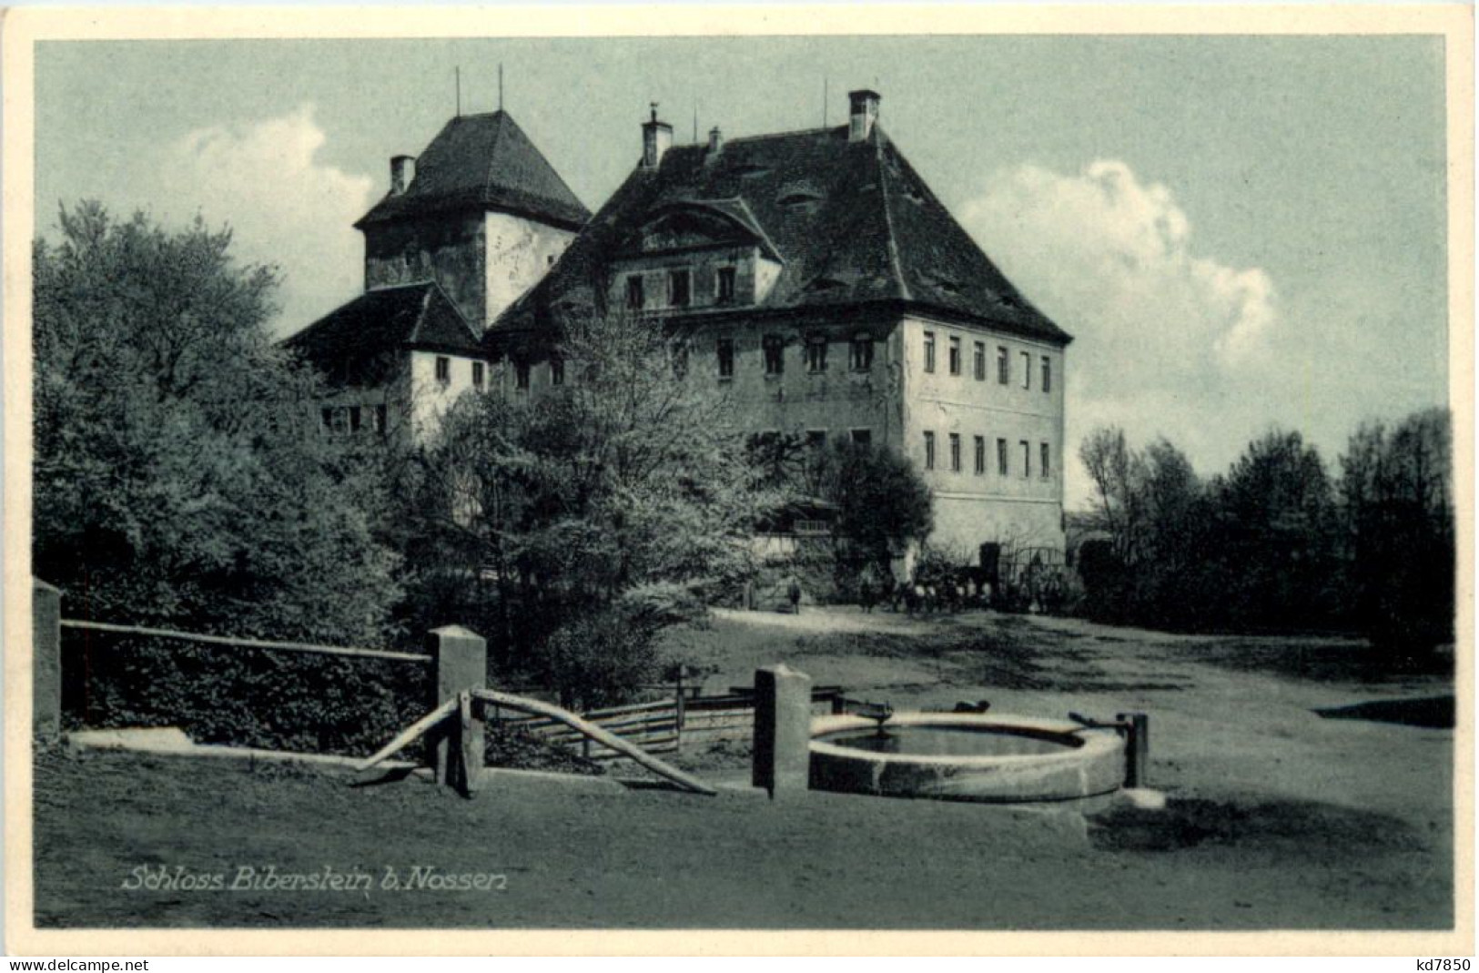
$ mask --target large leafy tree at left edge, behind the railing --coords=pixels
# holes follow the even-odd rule
[[[393,557],[318,433],[314,377],[266,333],[274,271],[198,219],[170,232],[83,203],[61,229],[33,256],[37,577],[96,620],[379,640]],[[139,683],[185,694],[175,676]]]

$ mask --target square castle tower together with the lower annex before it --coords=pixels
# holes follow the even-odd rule
[[[324,427],[423,441],[467,390],[490,387],[485,327],[590,219],[504,111],[458,115],[355,223],[364,294],[290,336],[325,379]]]

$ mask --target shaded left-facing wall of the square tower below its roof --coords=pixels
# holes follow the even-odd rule
[[[365,231],[365,290],[435,279],[473,327],[487,321],[484,214],[461,213]]]

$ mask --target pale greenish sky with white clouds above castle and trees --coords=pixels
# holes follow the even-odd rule
[[[352,223],[454,114],[454,68],[476,112],[500,64],[504,108],[592,210],[649,102],[688,140],[695,111],[738,138],[880,92],[905,157],[1075,336],[1069,507],[1097,426],[1213,475],[1272,427],[1334,466],[1361,421],[1448,401],[1439,37],[50,41],[37,232],[84,198],[229,225],[281,268],[288,334],[359,291]]]

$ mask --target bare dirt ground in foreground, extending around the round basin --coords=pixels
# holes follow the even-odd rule
[[[745,785],[747,753],[734,744],[682,759],[720,785],[713,799],[519,775],[464,800],[416,779],[364,785],[282,764],[61,751],[37,762],[37,923],[1452,924],[1452,682],[1380,676],[1358,642],[842,608],[719,612],[704,630],[674,633],[673,648],[711,667],[708,689],[784,661],[896,708],[989,699],[994,713],[1029,716],[1143,710],[1149,782],[1168,804],[1083,815],[819,793],[772,803]],[[351,887],[231,889],[243,868],[343,874]],[[386,887],[387,869],[404,881],[416,868],[430,869],[419,887]],[[222,875],[228,887],[149,887],[160,874],[207,886]],[[429,874],[501,880],[436,889]]]

